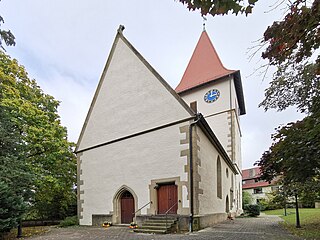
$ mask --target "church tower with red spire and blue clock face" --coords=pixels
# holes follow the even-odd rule
[[[246,113],[239,70],[225,68],[204,30],[176,92],[203,114],[235,167],[241,172],[240,116]],[[241,176],[235,177],[241,196]]]

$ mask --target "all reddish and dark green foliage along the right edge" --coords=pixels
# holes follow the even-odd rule
[[[281,177],[286,189],[298,190],[305,206],[320,192],[320,1],[294,1],[286,17],[264,34],[269,46],[263,53],[278,67],[265,99],[265,110],[296,106],[308,113],[301,121],[279,127],[273,144],[257,165],[263,179]]]

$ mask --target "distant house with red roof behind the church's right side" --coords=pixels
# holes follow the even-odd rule
[[[279,190],[279,186],[275,182],[262,180],[260,168],[254,167],[242,170],[242,189],[250,193],[251,204],[257,204],[262,199],[268,199],[268,194]]]

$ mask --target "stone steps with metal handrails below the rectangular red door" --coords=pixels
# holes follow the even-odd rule
[[[146,220],[142,226],[134,229],[137,233],[166,234],[176,231],[177,218],[174,216],[154,216]]]

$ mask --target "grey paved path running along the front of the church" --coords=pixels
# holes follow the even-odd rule
[[[277,216],[260,216],[258,218],[237,218],[228,220],[199,232],[186,234],[140,234],[125,227],[70,227],[51,228],[41,236],[28,239],[33,240],[78,240],[78,239],[125,239],[125,240],[162,240],[162,239],[192,239],[192,240],[298,240],[279,226],[281,218]]]

